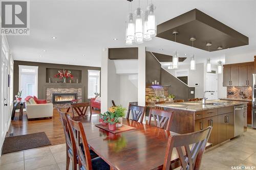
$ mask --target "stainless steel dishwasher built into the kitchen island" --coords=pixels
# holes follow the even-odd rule
[[[244,132],[244,105],[234,106],[234,136]]]

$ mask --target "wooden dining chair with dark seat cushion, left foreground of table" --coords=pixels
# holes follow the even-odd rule
[[[106,163],[100,157],[91,158],[90,149],[87,142],[86,134],[84,132],[83,126],[81,122],[76,122],[73,120],[70,115],[67,115],[67,119],[70,124],[70,129],[74,136],[74,141],[76,145],[77,155],[78,155],[78,166],[79,169],[87,169],[87,170],[105,170],[110,169],[108,163]]]

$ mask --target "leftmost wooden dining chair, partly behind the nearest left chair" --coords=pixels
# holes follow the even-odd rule
[[[76,144],[74,141],[73,133],[70,131],[70,125],[67,119],[67,113],[62,112],[59,107],[57,107],[59,112],[61,124],[64,130],[66,139],[66,169],[69,169],[70,159],[72,160],[72,169],[76,170],[77,166],[77,154],[76,154]]]

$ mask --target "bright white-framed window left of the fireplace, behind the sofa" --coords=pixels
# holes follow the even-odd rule
[[[22,99],[28,95],[37,96],[38,66],[19,65],[19,91],[22,90]]]

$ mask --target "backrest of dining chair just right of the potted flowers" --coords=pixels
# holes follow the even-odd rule
[[[130,112],[132,113],[132,119],[133,120],[142,123],[144,114],[146,112],[146,107],[144,107],[144,106],[135,106],[135,105],[129,104],[126,118],[129,118]]]

